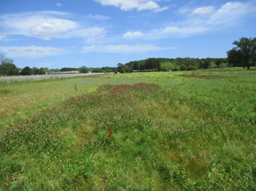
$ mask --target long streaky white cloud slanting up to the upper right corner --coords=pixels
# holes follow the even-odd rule
[[[125,39],[161,39],[168,37],[188,37],[206,34],[215,30],[223,30],[227,27],[238,25],[245,16],[256,12],[256,1],[250,3],[226,3],[219,9],[212,6],[199,8],[184,7],[179,9],[178,15],[185,20],[172,22],[169,26],[154,29],[147,32],[126,32]]]

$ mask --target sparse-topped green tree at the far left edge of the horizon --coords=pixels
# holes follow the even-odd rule
[[[18,68],[13,64],[13,59],[0,54],[0,74],[18,75]]]

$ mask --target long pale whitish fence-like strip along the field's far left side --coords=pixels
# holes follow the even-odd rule
[[[17,82],[29,82],[36,80],[51,80],[57,78],[71,78],[71,77],[83,77],[89,75],[104,75],[104,74],[112,74],[112,73],[77,73],[77,74],[55,74],[55,75],[29,75],[29,76],[3,76],[0,77],[1,83],[17,83]]]

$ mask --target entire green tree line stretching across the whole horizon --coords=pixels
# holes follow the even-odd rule
[[[155,70],[155,71],[179,71],[179,70],[197,70],[206,68],[226,68],[241,66],[250,69],[250,66],[256,66],[256,38],[242,37],[235,40],[232,44],[236,47],[227,51],[227,58],[147,58],[139,61],[130,61],[129,63],[118,63],[117,67],[102,68],[17,68],[13,59],[0,54],[0,75],[44,75],[53,71],[79,71],[80,73],[130,73],[134,70]]]

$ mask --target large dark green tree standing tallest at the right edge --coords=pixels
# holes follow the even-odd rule
[[[243,66],[250,70],[256,64],[256,38],[242,37],[233,42],[236,47],[227,51],[229,65]]]

